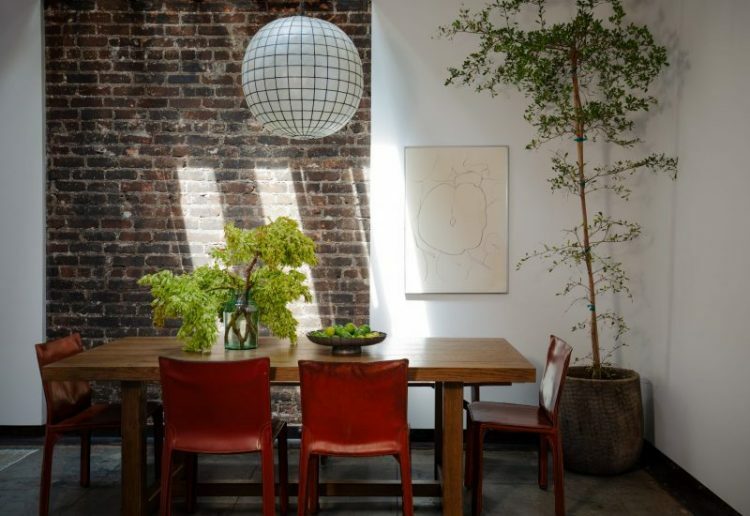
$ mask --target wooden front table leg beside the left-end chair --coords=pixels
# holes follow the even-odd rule
[[[122,387],[122,514],[146,514],[146,386]]]

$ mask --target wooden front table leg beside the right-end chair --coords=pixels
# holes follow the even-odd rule
[[[443,384],[443,514],[446,516],[463,514],[463,399],[462,383]]]

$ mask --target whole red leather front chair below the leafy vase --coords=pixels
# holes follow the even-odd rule
[[[287,427],[271,419],[271,362],[268,358],[197,362],[159,357],[166,418],[161,508],[171,514],[172,454],[260,452],[263,514],[274,511],[273,441],[279,439],[279,498],[286,514]],[[188,507],[193,504],[195,468],[188,472]]]

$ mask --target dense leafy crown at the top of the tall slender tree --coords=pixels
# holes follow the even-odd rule
[[[554,24],[547,23],[544,6],[544,0],[496,0],[476,13],[461,10],[438,32],[474,35],[478,49],[460,68],[448,69],[446,84],[493,96],[514,86],[529,99],[524,116],[541,140],[573,134],[580,125],[592,138],[632,145],[636,139],[622,133],[632,128],[633,114],[656,103],[648,89],[667,66],[666,49],[647,27],[626,24],[617,0],[577,1],[575,16]],[[517,18],[532,13],[536,28],[522,30]],[[574,77],[583,92],[580,108],[573,103]]]

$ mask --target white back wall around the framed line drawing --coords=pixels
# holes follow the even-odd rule
[[[484,3],[465,2],[474,7]],[[434,0],[373,3],[372,323],[399,335],[503,336],[537,365],[539,376],[550,333],[575,345],[578,355],[589,351],[587,336],[570,332],[588,312],[585,308],[566,311],[570,300],[555,296],[567,279],[566,271],[547,273],[547,264],[541,261],[516,271],[515,264],[542,243],[560,241],[561,230],[578,222],[579,205],[550,191],[553,147],[525,150],[534,132],[523,120],[522,95],[508,90],[492,98],[470,88],[444,86],[447,67],[460,65],[476,44],[469,37],[454,41],[435,37],[438,26],[455,19],[458,7],[455,2]],[[508,294],[406,298],[403,149],[412,145],[509,146]],[[637,214],[639,206],[636,201],[618,214]],[[640,259],[637,254],[635,258],[628,266],[638,275]],[[487,388],[482,396],[535,403],[537,388],[533,384]],[[412,426],[432,425],[430,396],[426,390],[413,393]]]

